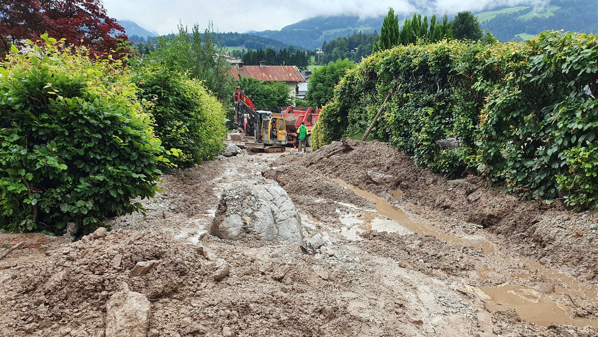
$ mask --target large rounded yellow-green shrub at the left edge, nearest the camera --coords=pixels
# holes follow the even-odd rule
[[[121,60],[42,36],[0,68],[0,228],[86,232],[142,210],[164,149]]]

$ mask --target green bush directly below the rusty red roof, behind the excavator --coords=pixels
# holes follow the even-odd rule
[[[237,84],[246,95],[255,100],[255,107],[270,109],[293,105],[289,92],[291,88],[285,82],[266,82],[253,77],[241,77]]]

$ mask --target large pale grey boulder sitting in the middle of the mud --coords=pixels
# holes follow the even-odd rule
[[[226,187],[210,234],[221,239],[244,235],[262,240],[303,243],[301,217],[285,190],[273,180],[237,182]]]

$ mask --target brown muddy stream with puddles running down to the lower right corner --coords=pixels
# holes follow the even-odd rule
[[[381,196],[346,184],[342,180],[333,180],[341,186],[352,190],[356,195],[372,202],[376,208],[376,211],[357,208],[356,210],[365,214],[355,217],[353,220],[351,218],[341,219],[341,223],[349,226],[349,228],[343,232],[343,235],[346,235],[347,237],[352,235],[354,238],[357,238],[359,230],[369,232],[370,230],[376,229],[379,231],[400,233],[405,232],[405,229],[408,229],[411,232],[420,235],[435,236],[435,238],[438,238],[441,241],[450,242],[457,246],[460,245],[462,247],[475,248],[487,254],[504,255],[504,253],[498,253],[496,245],[488,239],[480,238],[479,236],[476,236],[475,239],[466,239],[450,233],[438,232],[438,230],[428,227],[424,223],[416,223],[412,221],[399,207],[391,205]],[[401,200],[403,194],[397,190],[389,190],[388,193],[397,201]],[[392,221],[380,221],[379,218],[376,217],[377,214],[392,219],[396,224],[392,225]],[[502,259],[502,257],[499,257],[499,259]],[[507,254],[505,260],[508,259],[515,258]],[[558,324],[572,324],[577,326],[591,325],[598,327],[598,321],[591,321],[582,317],[572,318],[570,314],[576,306],[575,303],[572,303],[572,300],[570,300],[572,298],[570,295],[592,298],[598,301],[598,289],[596,289],[596,286],[593,286],[590,283],[581,283],[575,278],[562,274],[556,271],[556,269],[547,268],[535,260],[522,259],[519,257],[517,260],[523,262],[523,265],[530,270],[535,271],[535,273],[544,275],[548,280],[553,280],[553,282],[555,282],[554,289],[552,292],[549,291],[543,293],[521,284],[504,284],[498,287],[481,287],[480,289],[474,288],[473,292],[486,304],[487,309],[496,311],[498,309],[514,308],[524,320],[542,326],[548,326],[554,322]],[[492,269],[488,268],[488,270]],[[484,271],[479,271],[478,275],[484,278]],[[526,277],[523,276],[523,278]],[[532,282],[530,281],[530,283]]]

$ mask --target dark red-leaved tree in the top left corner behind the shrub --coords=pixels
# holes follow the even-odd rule
[[[0,54],[11,44],[39,35],[72,44],[84,44],[92,53],[115,50],[120,39],[127,40],[124,28],[106,15],[100,0],[2,0],[0,1]],[[83,42],[81,42],[83,40]]]

